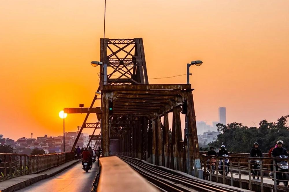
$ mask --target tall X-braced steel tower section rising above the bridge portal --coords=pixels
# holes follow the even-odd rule
[[[108,85],[149,83],[142,38],[102,38],[100,46],[101,62],[108,67],[108,73],[104,74],[103,66],[101,66],[101,89],[104,75],[107,75]]]

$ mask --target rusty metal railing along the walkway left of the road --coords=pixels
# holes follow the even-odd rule
[[[74,152],[28,156],[0,153],[0,181],[21,175],[39,173],[74,159]]]

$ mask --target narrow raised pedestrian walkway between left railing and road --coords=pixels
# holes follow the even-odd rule
[[[46,171],[43,171],[41,173],[37,174],[29,174],[29,175],[23,175],[15,178],[11,178],[5,181],[0,182],[0,191],[1,192],[12,192],[16,191],[18,189],[22,189],[24,187],[27,187],[35,182],[38,182],[42,179],[52,177],[61,171],[64,171],[68,167],[71,167],[72,165],[78,163],[80,160],[71,160],[66,163],[63,163],[62,165],[58,167],[54,167],[51,169],[48,169]]]

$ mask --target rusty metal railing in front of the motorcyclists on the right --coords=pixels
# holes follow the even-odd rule
[[[200,159],[206,180],[252,191],[289,191],[288,164],[287,166],[280,164],[281,161],[286,164],[289,158],[223,157],[200,154]],[[270,172],[272,177],[269,175]]]

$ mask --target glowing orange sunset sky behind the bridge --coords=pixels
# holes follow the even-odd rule
[[[190,68],[197,121],[257,125],[289,114],[289,1],[107,0],[107,38],[144,40],[149,78]],[[88,107],[98,87],[104,1],[0,1],[0,134],[61,135],[64,107]],[[149,80],[186,83],[186,76]],[[84,115],[68,115],[76,131]],[[90,118],[94,122],[95,117]]]

